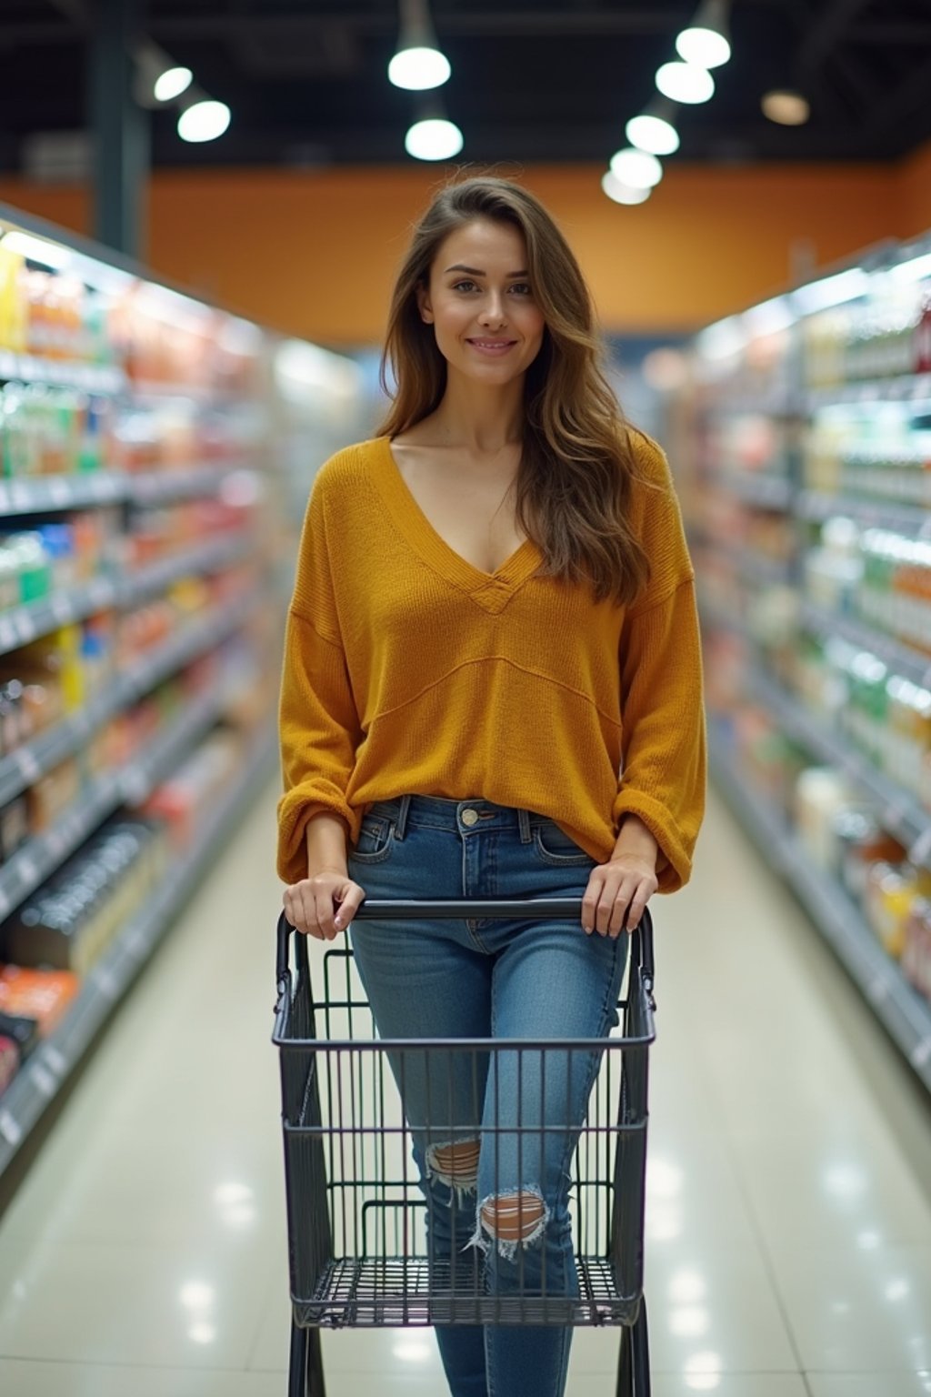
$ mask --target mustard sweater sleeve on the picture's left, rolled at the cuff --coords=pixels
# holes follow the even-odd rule
[[[304,835],[322,810],[353,827],[346,789],[362,732],[328,566],[322,482],[307,506],[288,613],[279,701],[283,795],[278,803],[278,875],[307,877]]]

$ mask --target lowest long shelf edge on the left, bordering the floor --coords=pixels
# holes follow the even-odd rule
[[[84,981],[67,1017],[0,1097],[0,1173],[81,1062],[114,1004],[209,870],[218,849],[250,809],[257,785],[272,768],[274,732],[264,732],[234,787],[218,803],[191,851],[172,869],[154,898],[133,918]]]

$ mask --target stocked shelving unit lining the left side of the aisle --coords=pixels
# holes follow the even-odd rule
[[[11,251],[11,231],[29,235],[18,240],[20,246],[28,243],[27,260]],[[54,246],[47,261],[42,261],[42,240]],[[281,654],[290,588],[290,576],[282,585],[282,563],[296,546],[300,522],[290,496],[297,486],[306,499],[315,465],[331,454],[324,436],[336,429],[336,420],[341,439],[353,439],[353,419],[364,415],[364,386],[360,376],[355,398],[346,390],[348,360],[318,346],[307,355],[313,374],[304,381],[300,355],[288,352],[293,342],[197,302],[180,288],[155,282],[117,254],[4,207],[0,261],[8,292],[0,337],[4,345],[17,346],[15,352],[0,348],[0,534],[32,532],[35,548],[45,549],[49,569],[60,577],[54,569],[63,553],[56,549],[67,546],[70,514],[112,514],[82,521],[80,539],[91,556],[100,541],[109,545],[114,528],[135,525],[147,507],[167,507],[154,521],[149,543],[166,528],[177,532],[165,539],[170,552],[155,562],[120,571],[103,553],[96,563],[100,576],[67,590],[59,581],[52,595],[14,606],[10,592],[21,585],[17,569],[27,566],[22,557],[28,548],[17,555],[17,545],[10,545],[7,570],[0,576],[0,655],[10,657],[6,673],[17,675],[17,650],[61,627],[102,612],[141,609],[179,583],[248,564],[241,578],[229,576],[211,588],[202,610],[186,610],[204,592],[187,588],[174,609],[179,629],[112,675],[105,689],[95,689],[84,708],[25,743],[0,747],[3,809],[22,802],[61,763],[80,757],[110,721],[163,682],[228,647],[223,661],[205,672],[207,687],[174,689],[174,705],[161,729],[131,760],[96,775],[80,767],[74,803],[0,863],[0,919],[60,869],[107,817],[156,791],[218,722],[226,721],[246,742],[248,733],[254,738],[207,824],[198,820],[193,847],[172,863],[144,911],[117,930],[81,979],[57,1031],[33,1049],[0,1095],[3,1173],[211,868],[257,782],[274,770],[274,732],[262,721],[264,712],[274,711],[274,697],[262,710],[255,694],[269,678],[274,686],[272,657]],[[22,345],[31,352],[21,352]],[[321,379],[328,366],[331,377],[324,373]],[[332,395],[328,383],[334,384]],[[191,509],[179,509],[174,525],[174,506],[186,502]],[[202,510],[198,502],[204,502]],[[247,520],[241,527],[234,510]],[[216,532],[198,531],[201,518],[208,521],[205,529]],[[45,524],[59,528],[46,529]],[[77,541],[77,521],[74,528]],[[145,518],[141,528],[147,528]],[[116,542],[119,557],[119,536]],[[140,617],[140,644],[145,644],[148,620]],[[167,613],[155,613],[156,627],[169,623]],[[107,644],[106,627],[98,627],[92,638],[89,652],[99,655]],[[257,721],[261,731],[254,728]],[[15,740],[10,732],[17,732],[15,725],[3,731],[3,742]],[[24,817],[22,805],[15,817]]]

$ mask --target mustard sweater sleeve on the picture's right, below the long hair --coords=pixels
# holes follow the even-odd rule
[[[650,443],[652,444],[652,443]],[[614,827],[638,816],[660,847],[659,890],[688,882],[705,813],[706,739],[695,578],[669,465],[646,492],[653,580],[621,633],[623,770]]]

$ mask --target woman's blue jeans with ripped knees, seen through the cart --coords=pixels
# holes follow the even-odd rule
[[[371,898],[581,897],[595,866],[544,816],[416,795],[373,805],[349,852]],[[628,939],[586,936],[581,916],[359,921],[352,944],[382,1038],[603,1038],[617,1023]],[[602,1055],[391,1056],[431,1259],[452,1266],[454,1287],[578,1295],[568,1169]],[[564,1324],[437,1324],[452,1397],[563,1397],[571,1337]]]

